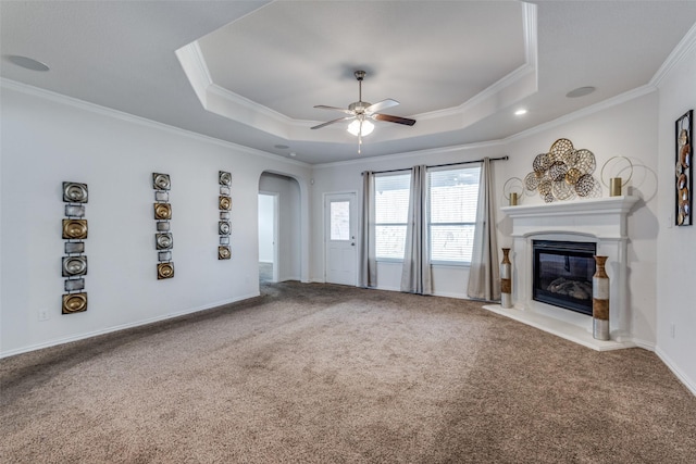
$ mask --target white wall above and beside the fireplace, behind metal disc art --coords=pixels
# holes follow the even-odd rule
[[[532,172],[532,162],[538,153],[549,150],[554,141],[568,138],[576,149],[588,149],[595,155],[597,167],[594,176],[600,180],[601,166],[612,156],[629,156],[634,165],[634,175],[627,191],[641,200],[627,218],[627,285],[631,308],[633,340],[642,347],[654,349],[656,341],[656,238],[657,214],[657,91],[639,95],[625,102],[605,102],[567,121],[558,121],[521,135],[507,143],[510,161],[501,165],[498,173],[500,185],[506,179],[524,176]],[[616,104],[614,104],[616,103]],[[618,165],[621,167],[622,165]],[[602,196],[609,192],[602,186]],[[581,200],[581,199],[579,199]],[[498,198],[500,204],[505,200]],[[538,195],[524,197],[525,204],[544,201]],[[510,246],[509,220],[501,216],[499,244]],[[609,277],[618,272],[609,264]],[[614,274],[616,275],[616,274]]]

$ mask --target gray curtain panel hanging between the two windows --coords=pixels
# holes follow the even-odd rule
[[[406,227],[406,250],[401,273],[401,291],[431,294],[431,251],[427,235],[427,168],[411,168],[411,196]]]

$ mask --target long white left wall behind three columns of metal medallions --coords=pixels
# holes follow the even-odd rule
[[[15,83],[2,81],[1,124],[2,355],[253,297],[261,173],[298,179],[308,209],[302,163]],[[233,177],[229,261],[216,256],[217,171]],[[175,277],[167,280],[157,280],[153,172],[172,178]],[[61,315],[64,180],[89,188],[89,305],[71,315]],[[309,224],[307,214],[296,221]],[[298,261],[308,263],[302,247]],[[49,321],[38,321],[41,309]]]

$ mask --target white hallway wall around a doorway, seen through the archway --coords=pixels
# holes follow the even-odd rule
[[[259,190],[278,193],[278,281],[301,279],[301,237],[299,184],[289,177],[263,173]]]

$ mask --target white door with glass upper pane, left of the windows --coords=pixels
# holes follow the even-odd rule
[[[332,193],[324,202],[326,281],[356,285],[356,193]]]

